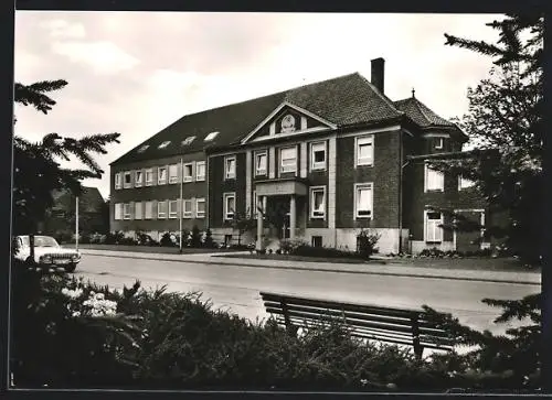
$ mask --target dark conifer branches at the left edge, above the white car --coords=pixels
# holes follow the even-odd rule
[[[32,85],[15,83],[14,101],[47,113],[56,104],[47,94],[66,85],[63,79]],[[32,242],[38,221],[43,220],[46,210],[53,205],[54,190],[68,190],[77,196],[83,190],[81,180],[102,177],[104,171],[94,155],[106,154],[105,147],[113,142],[119,143],[119,136],[120,133],[98,133],[73,139],[49,133],[39,142],[30,142],[15,136],[12,205],[14,234],[30,234]],[[57,162],[72,158],[79,160],[85,167],[67,169]]]

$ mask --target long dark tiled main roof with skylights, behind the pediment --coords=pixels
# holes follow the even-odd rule
[[[358,73],[296,87],[273,95],[236,102],[180,118],[145,142],[112,162],[123,164],[202,151],[208,147],[224,147],[240,142],[279,105],[287,101],[301,107],[337,127],[395,119],[403,116],[388,97]],[[213,141],[204,138],[220,133]],[[188,145],[181,142],[191,136]],[[168,145],[159,149],[163,142]],[[142,152],[138,150],[149,145]]]

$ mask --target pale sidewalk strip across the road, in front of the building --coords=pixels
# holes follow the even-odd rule
[[[220,266],[240,266],[253,268],[272,268],[272,269],[288,269],[288,270],[310,270],[319,272],[344,272],[344,273],[363,273],[379,275],[399,275],[411,278],[431,278],[431,279],[447,279],[447,280],[465,280],[478,282],[501,282],[512,284],[529,284],[541,285],[541,274],[534,272],[507,272],[507,271],[479,271],[479,270],[460,270],[460,269],[438,269],[438,268],[421,268],[408,267],[404,262],[388,264],[378,263],[325,263],[325,262],[295,262],[295,261],[278,261],[278,260],[262,260],[247,258],[225,258],[221,253],[195,253],[195,255],[164,255],[164,253],[146,253],[131,251],[109,251],[109,250],[92,250],[82,249],[83,255],[102,256],[102,257],[118,257],[134,258],[146,260],[163,260],[176,262],[198,262]],[[246,255],[247,251],[227,252],[226,255]]]

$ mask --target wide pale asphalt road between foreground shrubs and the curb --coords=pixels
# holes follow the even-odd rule
[[[453,313],[478,329],[501,333],[493,324],[500,310],[481,299],[521,299],[538,293],[540,285],[443,280],[431,278],[352,274],[262,267],[205,264],[86,255],[75,274],[114,289],[140,280],[144,288],[163,284],[177,292],[199,291],[215,309],[222,307],[250,320],[266,314],[259,291],[288,293],[337,301],[388,306],[420,307],[427,304]]]

